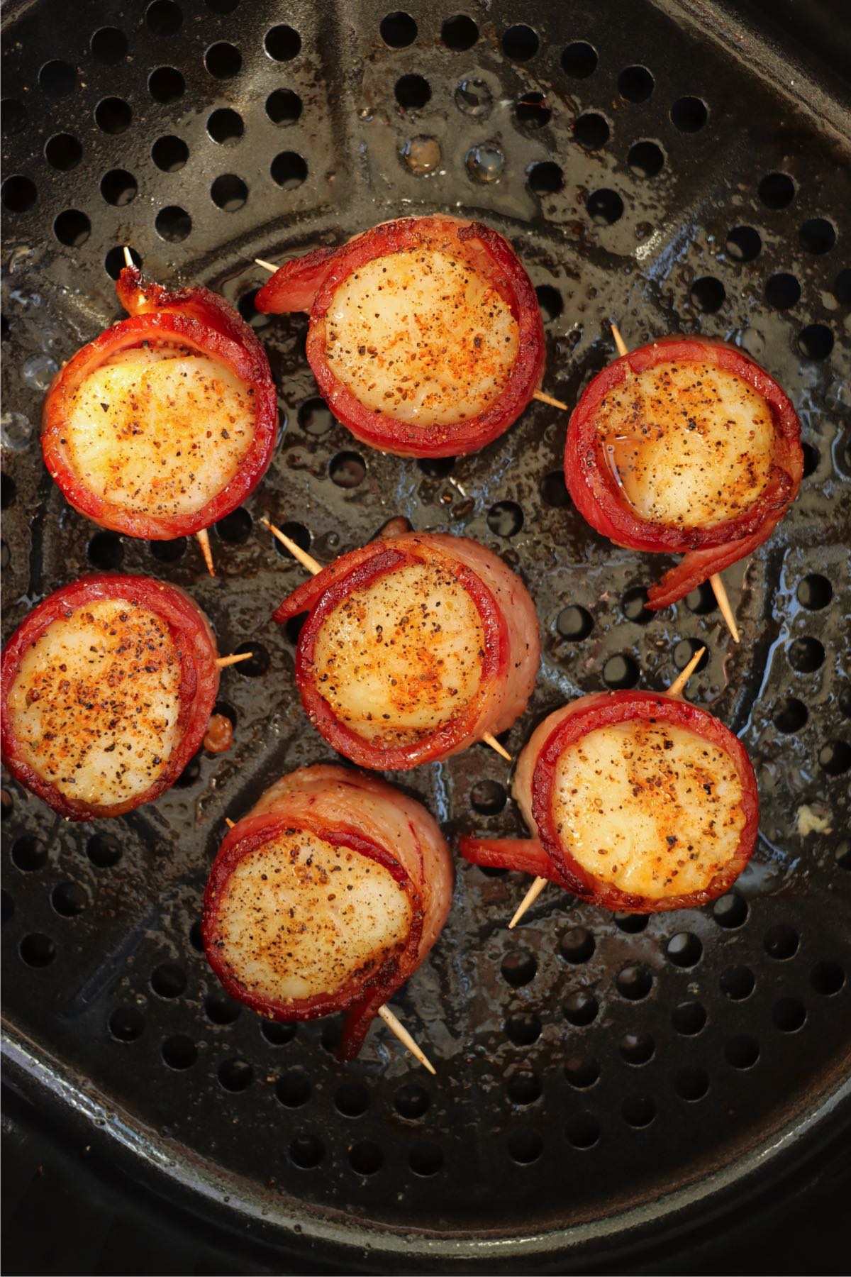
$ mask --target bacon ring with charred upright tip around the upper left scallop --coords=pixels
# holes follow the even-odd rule
[[[128,536],[172,540],[191,536],[236,510],[269,467],[278,429],[278,405],[269,361],[253,329],[223,298],[193,286],[168,291],[147,282],[138,267],[125,267],[116,292],[129,319],[107,328],[59,370],[45,397],[41,446],[65,499],[87,518]],[[75,474],[65,443],[65,421],[82,382],[120,350],[174,342],[226,364],[254,395],[254,437],[239,470],[194,515],[131,513],[91,492]]]

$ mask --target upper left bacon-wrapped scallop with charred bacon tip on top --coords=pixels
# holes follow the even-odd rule
[[[203,533],[254,490],[278,409],[265,352],[204,287],[170,292],[125,267],[129,318],[70,359],[47,391],[45,464],[68,502],[128,536]]]

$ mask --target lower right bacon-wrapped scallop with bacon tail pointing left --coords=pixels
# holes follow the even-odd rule
[[[521,753],[514,797],[535,836],[462,838],[475,865],[522,870],[607,909],[656,913],[723,895],[750,859],[750,760],[712,714],[653,692],[583,696]]]

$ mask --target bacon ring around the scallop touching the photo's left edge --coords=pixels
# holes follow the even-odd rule
[[[180,659],[180,737],[171,759],[159,778],[137,798],[121,803],[84,803],[61,794],[50,782],[23,761],[14,732],[13,715],[8,701],[13,683],[27,650],[36,644],[50,626],[68,617],[87,603],[106,599],[126,599],[140,608],[156,613],[168,626]],[[15,630],[3,651],[0,674],[0,752],[13,776],[27,789],[42,798],[66,820],[94,820],[101,816],[121,816],[143,803],[153,802],[171,788],[193,755],[200,748],[209,716],[218,693],[219,670],[216,664],[217,649],[213,631],[198,604],[177,586],[154,581],[147,576],[121,576],[105,572],[82,577],[48,594]]]

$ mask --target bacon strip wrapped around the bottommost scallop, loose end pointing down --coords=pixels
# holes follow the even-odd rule
[[[352,971],[334,990],[307,997],[265,997],[248,987],[222,936],[221,902],[242,857],[282,830],[305,830],[376,859],[411,902],[408,935],[366,972]],[[452,857],[429,812],[406,794],[344,767],[318,765],[283,776],[227,834],[204,894],[203,936],[208,960],[232,997],[272,1019],[305,1020],[346,1011],[338,1055],[353,1059],[378,1009],[415,973],[440,935],[452,902]],[[255,916],[264,902],[254,903]],[[310,926],[310,919],[305,919]]]

